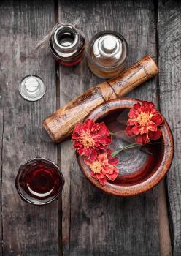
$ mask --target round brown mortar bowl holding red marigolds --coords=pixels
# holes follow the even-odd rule
[[[95,108],[88,116],[96,122],[104,121],[109,131],[116,134],[116,136],[112,136],[110,146],[112,151],[134,142],[134,140],[130,141],[124,130],[128,111],[136,102],[142,101],[139,99],[115,99]],[[91,184],[111,195],[124,197],[138,195],[155,187],[168,172],[174,155],[172,132],[165,118],[163,119],[162,138],[159,140],[159,144],[133,148],[117,155],[120,162],[117,165],[119,174],[115,181],[107,181],[102,186],[99,181],[90,176],[90,168],[79,156],[78,162],[82,173]]]

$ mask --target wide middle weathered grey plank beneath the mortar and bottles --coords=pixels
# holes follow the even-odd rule
[[[59,22],[76,23],[88,40],[103,29],[120,31],[130,48],[128,64],[155,57],[155,10],[150,1],[59,1]],[[61,105],[99,82],[86,63],[60,67]],[[156,79],[129,94],[156,103]],[[131,198],[105,195],[82,176],[72,143],[61,143],[63,255],[159,255],[158,189]]]

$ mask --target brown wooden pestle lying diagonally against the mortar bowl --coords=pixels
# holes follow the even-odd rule
[[[52,116],[45,118],[43,127],[53,141],[61,142],[71,135],[74,125],[85,120],[93,108],[110,99],[123,97],[156,74],[158,67],[155,61],[150,56],[145,56],[118,77],[99,83],[72,99]]]

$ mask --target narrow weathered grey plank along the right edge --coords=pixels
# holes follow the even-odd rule
[[[167,189],[172,224],[173,255],[181,255],[181,2],[159,1],[159,67],[161,112],[166,117],[175,142],[174,162],[167,176]]]

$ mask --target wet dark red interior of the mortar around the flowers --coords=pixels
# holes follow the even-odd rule
[[[112,135],[112,143],[109,148],[112,152],[135,143],[133,138],[126,135],[126,122],[128,120],[128,109],[109,112],[97,122],[104,121]],[[158,142],[161,140],[157,140]],[[154,142],[154,141],[152,141]],[[118,178],[109,181],[122,186],[139,184],[155,173],[163,158],[163,143],[155,145],[140,146],[138,148],[121,151],[116,157],[119,159],[117,165]]]

